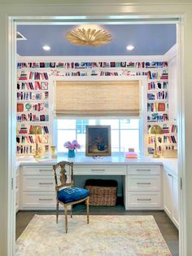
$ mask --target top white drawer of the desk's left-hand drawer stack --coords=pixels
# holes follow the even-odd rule
[[[54,177],[54,170],[52,166],[24,166],[24,175],[51,175]]]

